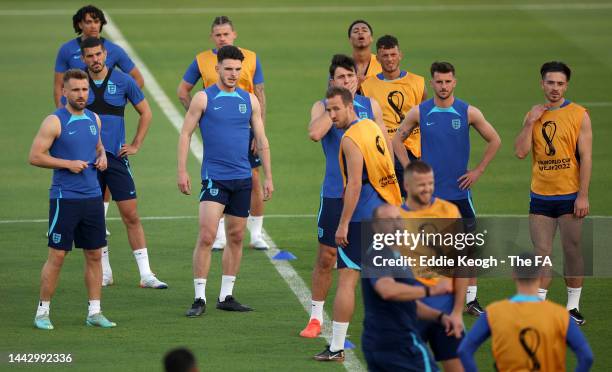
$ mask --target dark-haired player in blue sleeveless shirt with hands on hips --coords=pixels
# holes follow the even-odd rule
[[[501,146],[495,128],[475,106],[456,98],[453,94],[457,80],[455,68],[448,62],[431,65],[431,87],[435,93],[418,106],[413,107],[393,137],[396,157],[405,167],[409,159],[398,153],[404,141],[420,128],[421,160],[433,169],[434,196],[455,204],[466,221],[466,228],[475,227],[476,212],[470,187],[478,181]],[[487,142],[484,155],[478,165],[469,170],[470,127],[474,127]],[[483,310],[476,298],[476,278],[470,279],[467,289],[466,311],[474,316]]]

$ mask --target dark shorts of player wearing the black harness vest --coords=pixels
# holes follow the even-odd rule
[[[119,158],[107,152],[108,166],[103,172],[98,171],[98,182],[102,190],[108,189],[114,201],[136,199],[136,185],[127,157]]]

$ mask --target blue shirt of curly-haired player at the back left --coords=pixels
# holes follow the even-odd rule
[[[113,68],[118,66],[121,71],[129,73],[136,67],[134,62],[119,45],[102,38],[106,48],[106,66]],[[87,66],[81,61],[81,37],[64,43],[55,58],[55,72],[66,72],[71,68],[87,70]]]

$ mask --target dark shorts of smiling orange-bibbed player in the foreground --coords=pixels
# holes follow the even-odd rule
[[[443,311],[446,314],[450,314],[453,310],[454,301],[454,294],[432,296],[422,300],[426,305],[436,310]],[[437,322],[419,321],[418,327],[421,339],[423,342],[429,343],[429,347],[436,361],[440,362],[459,357],[459,355],[457,355],[457,349],[463,340],[463,335],[461,338],[447,336],[444,327]]]

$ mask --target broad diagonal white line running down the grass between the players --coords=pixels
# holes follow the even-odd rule
[[[119,44],[129,56],[132,57],[132,59],[140,69],[140,72],[142,72],[142,75],[146,82],[146,89],[149,91],[155,102],[157,102],[157,104],[162,108],[162,111],[168,117],[168,120],[172,123],[176,130],[180,132],[181,127],[183,125],[182,116],[178,113],[176,107],[172,104],[166,93],[164,93],[164,91],[161,89],[161,87],[157,83],[157,80],[155,80],[155,78],[153,77],[151,71],[144,64],[142,59],[140,59],[136,51],[131,47],[131,45],[122,35],[121,31],[119,31],[119,28],[117,28],[115,23],[111,20],[108,13],[106,14],[106,20],[108,21],[108,24],[106,25],[106,32],[108,33],[108,36],[115,43]],[[192,137],[190,147],[191,152],[195,155],[198,161],[202,163],[202,142],[197,136]],[[304,309],[306,309],[306,312],[309,313],[308,309],[310,308],[309,302],[311,298],[310,290],[290,263],[288,263],[287,261],[278,261],[272,259],[273,254],[278,253],[278,248],[276,247],[276,244],[274,244],[266,230],[262,229],[262,232],[271,247],[271,249],[266,252],[268,258],[270,259],[270,262],[274,265],[274,267],[279,272],[281,277],[285,280],[285,282],[287,282],[289,288],[297,296],[300,303],[304,306]],[[327,329],[331,329],[331,327],[327,327]],[[298,330],[296,330],[296,332],[297,331]],[[357,359],[355,354],[350,350],[346,351],[346,360],[344,362],[344,367],[349,371],[365,370],[359,359]]]

